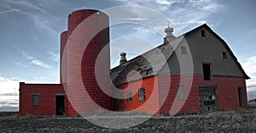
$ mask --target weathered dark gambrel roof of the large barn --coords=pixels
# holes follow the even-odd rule
[[[207,24],[201,25],[194,30],[190,30],[187,33],[184,33],[181,36],[177,36],[171,42],[164,42],[158,47],[154,47],[142,55],[137,56],[136,58],[132,58],[128,62],[121,64],[110,71],[110,77],[113,80],[113,84],[118,86],[120,84],[131,82],[133,80],[141,80],[142,78],[146,78],[149,76],[157,75],[160,72],[160,69],[166,64],[166,60],[172,56],[172,53],[177,48],[178,44],[182,42],[185,36],[189,36],[195,30],[198,30],[201,27],[207,28],[212,32],[214,36],[216,36],[221,42],[224,40],[218,36]],[[232,58],[236,61],[236,64],[241,69],[244,77],[249,79],[246,75],[245,71],[241,68],[241,64],[237,61],[237,58],[228,47],[227,43],[224,42],[224,47],[230,52]]]

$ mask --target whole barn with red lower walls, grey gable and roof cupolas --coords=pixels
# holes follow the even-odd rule
[[[164,43],[137,58],[126,61],[121,53],[111,70],[113,85],[125,89],[116,93],[115,109],[187,114],[247,108],[249,77],[227,43],[206,24],[178,37],[172,31],[168,27]]]

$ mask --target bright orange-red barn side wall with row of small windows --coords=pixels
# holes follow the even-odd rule
[[[138,90],[140,88],[145,88],[145,93],[146,93],[145,101],[138,101]],[[119,99],[115,99],[116,100],[115,108],[117,110],[122,110],[122,111],[133,110],[135,112],[143,112],[148,114],[155,114],[154,110],[159,110],[158,80],[154,76],[146,78],[144,80],[137,80],[130,83],[122,84],[119,86],[119,89],[124,90],[125,103],[120,103]],[[132,91],[132,94],[133,94],[132,102],[127,101],[128,91]],[[116,96],[119,97],[119,92],[116,93]],[[156,114],[158,114],[158,111]]]

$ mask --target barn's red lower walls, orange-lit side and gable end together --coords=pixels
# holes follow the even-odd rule
[[[189,80],[191,79],[192,84],[189,85]],[[177,86],[179,85],[183,85],[183,98],[177,97]],[[143,81],[137,80],[120,85],[119,89],[125,90],[125,103],[115,99],[115,109],[122,111],[137,109],[138,112],[148,114],[154,113],[152,108],[160,108],[156,114],[200,113],[199,86],[217,86],[218,110],[239,108],[238,87],[241,87],[244,92],[245,108],[247,108],[246,85],[243,78],[213,77],[212,81],[204,81],[202,76],[197,75],[157,75],[143,79]],[[190,87],[191,89],[189,90]],[[146,89],[146,101],[144,102],[138,101],[139,88]],[[158,92],[153,95],[154,89]],[[132,102],[127,101],[127,91],[132,91],[135,94],[132,97]],[[168,95],[164,98],[166,92]],[[116,93],[116,96],[119,97],[119,93]],[[153,97],[154,100],[145,105],[149,97]],[[160,107],[161,104],[162,106]],[[138,109],[139,107],[143,108]]]

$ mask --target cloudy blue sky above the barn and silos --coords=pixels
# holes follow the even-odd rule
[[[228,43],[251,77],[247,80],[248,100],[256,98],[254,0],[0,0],[0,111],[18,110],[20,81],[59,83],[60,34],[67,30],[68,14],[78,9],[105,11],[125,5],[165,15],[175,26],[175,36],[207,23]],[[147,19],[150,14],[140,10],[131,13],[136,18],[128,19],[146,18],[160,26],[154,30],[134,24],[111,26],[112,67],[118,64],[120,52],[127,52],[129,60],[163,42],[160,35],[167,27],[165,19]]]

